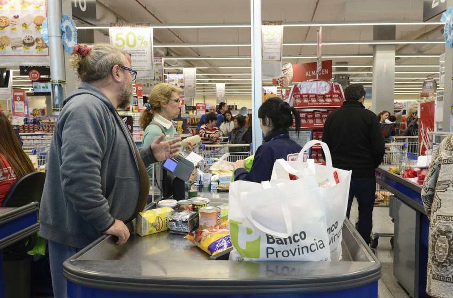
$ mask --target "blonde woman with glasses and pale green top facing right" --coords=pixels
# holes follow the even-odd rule
[[[155,85],[148,97],[148,103],[140,115],[140,127],[143,132],[143,147],[149,147],[156,137],[162,133],[173,137],[179,135],[172,120],[178,118],[181,112],[180,88],[171,84]],[[188,142],[187,151],[193,150],[193,144]]]

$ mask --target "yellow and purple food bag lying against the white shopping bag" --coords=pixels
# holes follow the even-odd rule
[[[217,255],[231,248],[230,231],[227,229],[196,230],[184,237],[209,255]]]

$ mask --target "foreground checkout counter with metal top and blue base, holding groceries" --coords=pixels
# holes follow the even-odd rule
[[[205,191],[200,196],[211,206],[228,202],[227,193]],[[238,262],[213,260],[169,232],[132,234],[123,246],[103,236],[66,260],[63,270],[71,298],[377,298],[381,263],[347,219],[342,249],[339,262]]]

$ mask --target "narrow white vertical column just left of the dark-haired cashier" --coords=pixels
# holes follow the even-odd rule
[[[263,142],[258,119],[258,109],[261,106],[261,0],[250,0],[250,17],[251,17],[251,54],[252,54],[252,142],[253,154]]]

